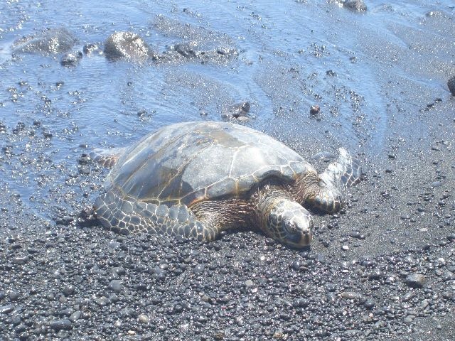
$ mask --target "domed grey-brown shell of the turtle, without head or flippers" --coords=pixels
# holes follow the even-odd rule
[[[298,153],[246,126],[200,121],[172,124],[127,148],[105,188],[166,205],[245,197],[265,178],[293,182],[314,168]]]

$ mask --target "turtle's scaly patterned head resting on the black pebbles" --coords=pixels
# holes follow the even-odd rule
[[[313,219],[297,202],[285,198],[273,205],[263,226],[264,232],[291,247],[306,247],[313,237]]]

